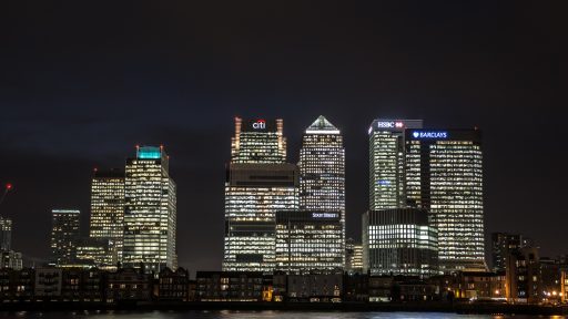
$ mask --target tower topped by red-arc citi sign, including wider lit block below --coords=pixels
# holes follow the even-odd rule
[[[274,269],[276,212],[300,206],[298,171],[284,163],[285,141],[282,120],[235,119],[225,181],[224,271]]]

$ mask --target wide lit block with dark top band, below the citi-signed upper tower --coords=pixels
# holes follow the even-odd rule
[[[272,272],[276,212],[298,207],[297,166],[231,164],[227,178],[223,270]]]

